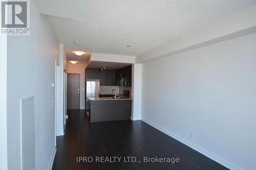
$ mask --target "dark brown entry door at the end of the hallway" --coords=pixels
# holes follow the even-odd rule
[[[80,109],[80,74],[68,73],[67,109]]]

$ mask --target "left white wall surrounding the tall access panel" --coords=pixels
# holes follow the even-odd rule
[[[58,41],[49,16],[30,1],[30,35],[8,37],[8,169],[21,169],[20,99],[35,95],[35,164],[48,169],[55,148],[55,59]]]

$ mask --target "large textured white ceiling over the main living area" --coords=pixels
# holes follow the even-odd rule
[[[56,17],[61,16],[58,13],[51,20],[68,58],[75,50],[136,56],[254,4],[255,0],[84,0],[77,4],[77,10],[67,7],[63,17]],[[79,10],[83,20],[79,20]],[[75,15],[69,18],[77,15],[77,19],[65,18],[73,12]],[[51,14],[49,9],[48,13]],[[74,44],[75,40],[79,44]]]

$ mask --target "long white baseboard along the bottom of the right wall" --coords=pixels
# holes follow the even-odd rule
[[[214,153],[211,153],[211,152],[209,152],[209,151],[207,151],[207,150],[205,150],[205,149],[199,147],[198,145],[196,145],[196,144],[194,144],[194,143],[192,143],[192,142],[190,142],[190,141],[188,141],[188,140],[186,140],[186,139],[184,139],[184,138],[182,138],[182,137],[176,135],[176,134],[173,133],[173,132],[170,132],[170,131],[168,131],[168,130],[162,128],[162,127],[160,127],[159,125],[154,124],[153,122],[150,122],[149,120],[146,120],[145,118],[141,118],[141,120],[142,120],[143,122],[145,122],[146,124],[151,125],[151,126],[153,126],[154,128],[160,130],[161,132],[167,134],[168,136],[173,137],[173,138],[175,138],[176,140],[178,140],[178,141],[184,143],[184,144],[187,145],[188,147],[190,147],[190,148],[196,150],[197,152],[200,152],[201,154],[207,156],[208,158],[210,158],[210,159],[212,159],[212,160],[214,160],[214,161],[216,161],[216,162],[222,164],[223,166],[226,166],[226,167],[229,168],[229,169],[233,169],[233,170],[244,170],[244,168],[242,168],[242,167],[240,167],[240,166],[238,166],[238,165],[236,165],[236,164],[233,164],[233,163],[231,163],[231,162],[229,162],[229,161],[227,161],[227,160],[225,160],[225,159],[223,159],[223,158],[221,158],[221,157],[215,155]]]

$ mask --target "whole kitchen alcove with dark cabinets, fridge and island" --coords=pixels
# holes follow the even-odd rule
[[[92,61],[86,68],[90,123],[131,119],[132,64]]]

